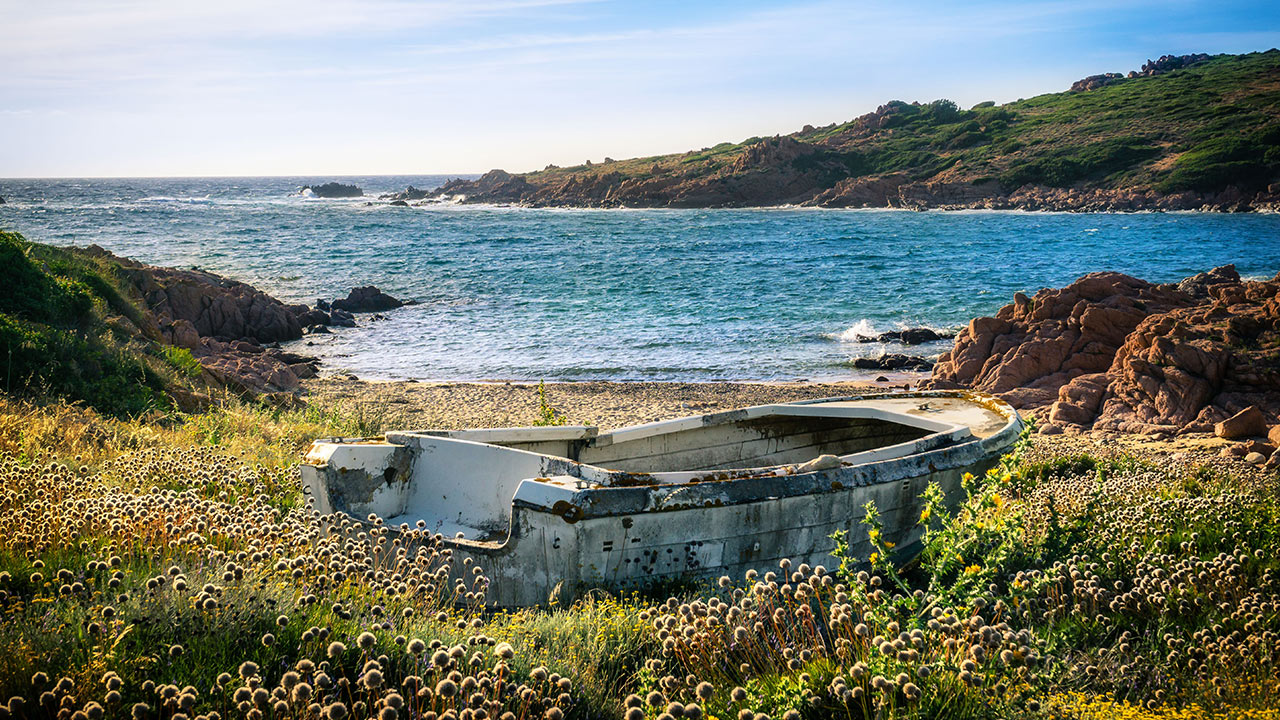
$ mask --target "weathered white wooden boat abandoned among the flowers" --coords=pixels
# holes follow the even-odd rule
[[[920,495],[1009,451],[1023,423],[973,392],[901,392],[760,405],[609,432],[593,427],[388,433],[326,439],[302,468],[321,514],[425,528],[490,579],[492,606],[604,587],[741,577],[782,557],[832,565],[831,539],[874,501],[899,552],[918,546]]]

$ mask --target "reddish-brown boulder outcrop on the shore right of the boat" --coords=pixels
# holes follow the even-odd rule
[[[1280,466],[1280,274],[1092,273],[1016,293],[972,320],[922,384],[996,393],[1044,433],[1213,433]]]

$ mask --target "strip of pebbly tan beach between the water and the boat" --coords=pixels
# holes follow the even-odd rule
[[[547,401],[568,424],[618,428],[750,405],[883,392],[891,383],[547,383]],[[531,425],[538,384],[369,382],[343,377],[306,380],[307,401],[342,406],[385,428],[485,428]]]

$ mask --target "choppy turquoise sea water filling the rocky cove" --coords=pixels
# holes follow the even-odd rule
[[[385,379],[858,378],[845,364],[886,347],[855,334],[955,328],[1087,272],[1280,270],[1276,215],[404,209],[297,196],[326,179],[0,179],[0,227],[198,265],[287,301],[367,283],[417,300],[300,343],[330,369]],[[366,193],[442,181],[343,178]]]

